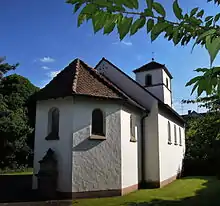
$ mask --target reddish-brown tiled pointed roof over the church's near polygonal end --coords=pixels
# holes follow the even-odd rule
[[[38,100],[71,95],[126,99],[108,79],[79,59],[64,68],[37,93]]]

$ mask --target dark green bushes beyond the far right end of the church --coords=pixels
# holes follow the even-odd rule
[[[220,113],[186,119],[185,175],[220,175]]]

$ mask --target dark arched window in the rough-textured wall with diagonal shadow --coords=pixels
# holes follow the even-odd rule
[[[104,136],[104,119],[100,109],[92,112],[92,134]]]

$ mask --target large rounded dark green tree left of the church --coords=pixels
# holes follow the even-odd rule
[[[33,145],[30,116],[34,116],[29,115],[29,108],[35,107],[35,102],[28,103],[38,90],[17,74],[3,77],[0,82],[0,168],[18,168],[29,162]]]

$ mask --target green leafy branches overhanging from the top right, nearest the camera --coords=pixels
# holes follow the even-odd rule
[[[142,1],[142,0],[141,0]],[[169,20],[164,7],[156,0],[143,0],[145,8],[139,8],[138,0],[67,0],[74,6],[74,12],[80,10],[78,26],[85,20],[92,20],[94,32],[103,29],[103,34],[110,34],[118,30],[122,40],[128,33],[134,35],[138,30],[146,27],[154,41],[160,34],[174,45],[187,45],[194,40],[195,45],[205,46],[210,56],[208,68],[198,68],[201,76],[191,79],[186,86],[193,85],[192,93],[197,90],[198,96],[220,95],[220,67],[213,66],[213,61],[220,49],[220,13],[206,16],[204,9],[193,8],[184,13],[178,0],[173,2],[173,13],[176,20]],[[207,0],[217,5],[220,0]],[[193,47],[194,47],[193,46]]]

